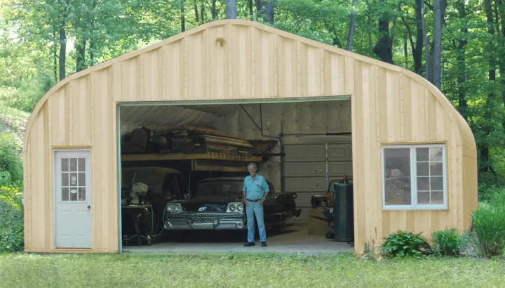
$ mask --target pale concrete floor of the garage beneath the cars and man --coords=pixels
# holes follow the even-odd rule
[[[354,247],[347,242],[328,240],[324,235],[309,235],[307,225],[292,225],[283,233],[273,234],[267,231],[268,247],[261,247],[256,240],[255,247],[243,247],[238,235],[218,233],[187,233],[179,235],[178,239],[152,244],[152,246],[123,246],[126,253],[229,253],[229,252],[268,252],[283,254],[332,254],[338,252],[351,252]]]

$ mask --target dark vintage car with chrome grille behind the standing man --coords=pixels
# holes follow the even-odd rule
[[[264,221],[267,228],[280,229],[293,216],[296,193],[274,190],[267,181],[270,193],[264,202]],[[247,230],[243,203],[243,178],[209,178],[198,182],[196,197],[168,202],[166,230]]]

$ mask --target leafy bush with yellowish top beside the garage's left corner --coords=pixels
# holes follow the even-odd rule
[[[15,186],[0,187],[0,252],[23,249],[22,192]]]

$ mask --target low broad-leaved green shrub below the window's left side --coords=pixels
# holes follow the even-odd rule
[[[422,256],[429,252],[429,244],[426,238],[412,232],[403,232],[398,230],[391,233],[386,242],[382,245],[384,256]]]

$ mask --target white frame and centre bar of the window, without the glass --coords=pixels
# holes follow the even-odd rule
[[[443,204],[417,204],[417,151],[416,148],[442,148],[442,179],[443,179]],[[384,149],[409,148],[410,149],[410,205],[387,205],[384,169]],[[395,144],[381,146],[381,171],[382,171],[382,209],[384,210],[447,210],[447,157],[445,143],[426,144]]]

